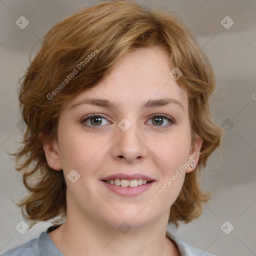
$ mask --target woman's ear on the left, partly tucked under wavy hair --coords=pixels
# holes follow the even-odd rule
[[[61,170],[62,164],[60,162],[57,143],[47,138],[41,131],[38,133],[38,138],[42,142],[48,165],[54,170]]]

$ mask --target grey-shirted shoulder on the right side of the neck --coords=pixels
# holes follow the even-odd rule
[[[168,229],[166,230],[166,236],[177,245],[180,256],[216,256],[209,252],[192,247],[187,242],[172,234]]]

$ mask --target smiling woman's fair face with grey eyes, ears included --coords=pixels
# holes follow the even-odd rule
[[[191,145],[188,97],[173,67],[161,48],[135,49],[67,102],[58,141],[44,145],[48,164],[63,169],[67,214],[114,227],[168,216],[201,146],[197,135]],[[184,167],[191,158],[194,167]]]

